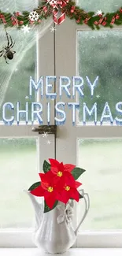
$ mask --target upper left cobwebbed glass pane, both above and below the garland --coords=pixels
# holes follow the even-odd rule
[[[38,0],[0,0],[0,6],[2,12],[30,12],[38,6]],[[13,20],[13,23],[20,22]],[[13,55],[13,59],[6,59],[9,63],[6,64],[4,54],[0,57],[0,121],[2,121],[2,106],[5,102],[13,103],[14,110],[6,107],[6,118],[14,116],[14,120],[17,120],[17,102],[20,102],[20,110],[25,110],[25,102],[28,102],[28,116],[31,120],[31,101],[35,102],[35,95],[30,99],[29,95],[29,80],[30,76],[35,79],[35,40],[36,32],[35,26],[28,28],[29,30],[24,32],[22,28],[17,29],[17,24],[14,24],[13,28],[6,28],[6,31],[15,42],[15,45],[11,48],[11,51],[16,51]],[[9,45],[11,39],[9,38]],[[0,50],[8,45],[6,32],[4,27],[0,29]],[[20,114],[20,121],[25,121],[25,113]]]

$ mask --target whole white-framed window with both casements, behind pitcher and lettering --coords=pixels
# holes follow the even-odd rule
[[[19,3],[20,2],[18,2],[18,8]],[[105,1],[102,1],[102,6],[101,3],[96,3],[94,1],[91,1],[91,4],[88,1],[82,1],[78,4],[81,4],[83,8],[87,10],[104,9],[106,12],[116,9],[116,5],[120,6],[120,1],[116,0],[116,5],[113,4],[112,1],[109,1],[107,4]],[[25,8],[26,6],[24,6],[24,9]],[[32,9],[31,4],[29,8]],[[49,32],[50,24],[48,24],[47,27],[43,37],[38,37],[36,50],[35,45],[33,45],[30,50],[26,50],[26,53],[23,56],[24,58],[21,58],[16,67],[13,66],[14,72],[10,70],[10,73],[12,72],[13,76],[10,77],[9,83],[6,83],[6,90],[3,86],[1,87],[1,90],[3,90],[2,95],[4,95],[1,103],[6,102],[7,98],[10,98],[10,100],[15,103],[17,95],[20,93],[19,96],[23,108],[25,101],[29,101],[28,98],[25,100],[25,96],[28,96],[28,91],[26,90],[28,90],[28,78],[30,74],[37,76],[37,80],[42,75],[68,77],[76,75],[85,77],[88,75],[91,76],[91,80],[94,80],[94,76],[99,76],[99,87],[96,87],[94,98],[91,100],[88,99],[88,93],[90,91],[87,88],[87,83],[85,84],[85,101],[89,104],[89,107],[91,107],[91,104],[93,104],[94,101],[98,102],[99,118],[101,117],[102,108],[106,101],[105,95],[108,94],[109,104],[113,111],[113,117],[115,118],[116,111],[114,106],[116,102],[120,101],[121,89],[121,28],[115,28],[113,30],[104,28],[104,30],[102,29],[100,32],[92,32],[87,26],[84,25],[80,27],[79,25],[76,25],[74,20],[69,19],[66,19],[61,26],[58,26],[54,33]],[[11,33],[15,36],[14,32]],[[112,50],[110,49],[110,46],[108,46],[108,43],[110,45],[111,42],[114,42],[112,43]],[[35,57],[36,61],[34,61]],[[0,59],[0,61],[2,61],[2,59]],[[107,69],[105,69],[105,65],[107,66]],[[11,69],[10,66],[8,70],[9,69]],[[3,72],[4,76],[6,75],[6,63],[3,65],[3,70],[0,69],[0,72]],[[23,77],[20,76],[20,72]],[[102,76],[102,72],[104,72],[104,76]],[[25,86],[21,84],[21,82],[17,82],[21,79],[26,83]],[[10,92],[11,90],[13,91],[12,93]],[[55,90],[58,94],[57,84]],[[100,95],[100,97],[96,97],[97,95]],[[40,96],[37,96],[39,101]],[[79,98],[67,98],[65,93],[63,93],[61,100],[64,102],[72,102],[79,100]],[[58,101],[60,101],[60,99],[57,97],[56,102]],[[54,103],[55,101],[51,101],[50,124],[54,124]],[[43,106],[43,124],[46,124],[46,99],[43,99]],[[31,131],[31,125],[21,124],[20,126],[13,125],[6,127],[6,125],[2,124],[0,126],[0,150],[2,150],[3,154],[3,160],[1,160],[2,186],[6,182],[6,176],[9,175],[9,171],[14,176],[14,180],[10,180],[5,191],[6,195],[9,187],[13,186],[13,190],[8,192],[10,199],[7,198],[6,195],[6,202],[9,204],[9,201],[12,200],[14,210],[9,209],[6,205],[1,212],[1,247],[13,246],[15,237],[17,243],[14,244],[14,246],[32,246],[30,223],[33,218],[33,210],[31,202],[29,202],[29,199],[24,195],[22,190],[23,188],[28,188],[28,185],[31,184],[32,180],[35,180],[35,178],[38,179],[37,174],[42,169],[43,160],[47,160],[48,158],[56,158],[58,161],[64,161],[64,163],[71,162],[72,164],[81,165],[81,167],[87,169],[87,172],[84,173],[81,180],[83,182],[83,188],[90,194],[91,210],[87,215],[83,226],[79,229],[76,246],[121,246],[122,232],[120,213],[122,206],[119,201],[121,192],[121,126],[94,126],[92,124],[93,120],[87,125],[80,124],[80,122],[76,120],[76,125],[72,126],[72,110],[68,109],[68,106],[65,106],[65,111],[66,122],[65,125],[57,127],[57,137],[55,135],[48,136],[48,139],[51,141],[50,146],[47,146],[46,139],[43,139],[42,135],[39,135],[38,132],[34,133]],[[9,112],[7,115],[9,116]],[[81,108],[79,109],[78,117],[82,122],[83,117]],[[21,118],[22,120],[24,119],[24,117]],[[12,154],[12,160],[9,159],[8,161],[10,165],[9,169],[5,161],[7,158],[6,148],[8,150],[10,148]],[[16,159],[14,156],[16,156]],[[30,158],[32,163],[28,160]],[[96,158],[97,161],[95,161]],[[28,163],[27,166],[22,164],[23,161]],[[16,167],[18,165],[19,168]],[[20,174],[20,169],[22,169],[22,174]],[[18,177],[20,177],[19,184]],[[102,182],[99,181],[100,179]],[[115,184],[113,187],[113,184],[110,184],[109,180],[113,183],[114,179]],[[99,200],[95,191],[99,195]],[[115,191],[115,193],[111,198],[113,191]],[[16,197],[14,197],[15,193]],[[27,205],[24,208],[24,204],[26,203]],[[104,205],[104,207],[102,207],[102,205]],[[114,211],[113,207],[115,209]],[[24,217],[21,216],[20,220],[18,220],[18,212],[20,211],[20,208],[22,209]],[[100,210],[102,210],[102,214],[100,213]],[[81,206],[76,207],[74,225],[79,222],[79,217],[82,213],[83,205],[81,203]],[[9,218],[8,214],[10,215]],[[28,214],[30,214],[29,219]],[[15,217],[15,215],[17,215],[17,218],[13,223],[13,217]],[[117,221],[114,217],[117,218]],[[9,239],[7,239],[7,237],[9,237]]]

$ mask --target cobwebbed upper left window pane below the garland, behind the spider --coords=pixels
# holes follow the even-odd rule
[[[28,119],[31,120],[31,102],[35,102],[35,94],[33,90],[32,98],[29,98],[30,76],[35,80],[35,32],[29,32],[24,35],[21,30],[11,28],[7,29],[11,35],[15,45],[13,50],[16,51],[12,60],[7,59],[6,64],[4,57],[0,58],[0,121],[2,121],[2,106],[5,102],[13,103],[14,110],[6,106],[6,118],[14,116],[17,120],[17,102],[20,102],[20,110],[26,109],[28,102]],[[0,49],[6,46],[6,33],[1,31],[2,40]],[[25,113],[21,114],[20,121],[25,121]]]

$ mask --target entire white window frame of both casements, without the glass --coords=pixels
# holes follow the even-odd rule
[[[102,28],[105,30],[105,28]],[[107,28],[108,29],[108,28]],[[122,30],[122,28],[113,28]],[[37,80],[40,76],[76,76],[76,32],[91,30],[86,25],[77,25],[74,20],[66,18],[55,33],[49,31],[37,40]],[[55,51],[54,51],[55,45]],[[52,64],[53,61],[53,64]],[[48,63],[48,65],[47,65]],[[55,66],[55,70],[54,70]],[[38,98],[38,101],[40,97]],[[67,102],[64,95],[63,101]],[[57,101],[60,99],[57,97]],[[70,100],[68,100],[69,102]],[[43,102],[46,104],[46,101]],[[52,107],[53,107],[52,103]],[[119,126],[75,126],[69,109],[66,109],[67,121],[64,126],[57,127],[57,139],[50,135],[52,143],[46,147],[38,133],[31,131],[29,125],[0,126],[0,137],[38,137],[38,171],[42,168],[43,160],[57,158],[59,161],[77,163],[76,139],[122,138],[122,128]],[[46,124],[46,119],[44,120]],[[54,124],[52,113],[51,124]],[[34,125],[35,126],[35,125]],[[72,140],[71,140],[72,138]],[[56,150],[55,150],[56,146]],[[41,152],[41,154],[40,154]],[[122,232],[82,232],[78,233],[76,247],[121,247]],[[35,247],[31,242],[31,231],[3,230],[0,231],[0,247]]]

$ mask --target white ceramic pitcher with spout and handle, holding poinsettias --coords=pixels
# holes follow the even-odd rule
[[[76,229],[72,227],[73,200],[69,200],[66,205],[63,202],[58,202],[53,210],[43,213],[43,203],[39,204],[35,195],[31,195],[31,193],[27,191],[35,209],[35,232],[33,241],[37,247],[43,248],[48,253],[57,254],[64,253],[73,246],[76,242],[79,226],[87,216],[90,207],[88,194],[84,193],[83,190],[80,191],[82,191],[85,202],[85,212]],[[82,199],[80,200],[83,202]]]

